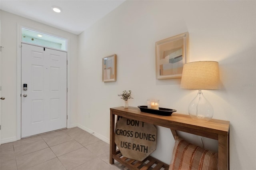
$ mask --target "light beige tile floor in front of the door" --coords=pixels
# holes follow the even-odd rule
[[[0,170],[128,170],[109,164],[109,144],[78,128],[0,145]]]

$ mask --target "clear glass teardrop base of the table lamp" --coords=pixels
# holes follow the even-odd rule
[[[204,97],[201,90],[198,90],[196,97],[190,102],[188,106],[188,113],[190,117],[210,121],[213,117],[213,107]]]

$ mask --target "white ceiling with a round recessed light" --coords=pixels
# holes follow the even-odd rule
[[[124,0],[0,0],[0,9],[43,24],[80,34]],[[52,6],[62,12],[56,13]]]

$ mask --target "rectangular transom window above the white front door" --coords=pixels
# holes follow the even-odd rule
[[[67,40],[28,28],[22,28],[22,42],[67,51]]]

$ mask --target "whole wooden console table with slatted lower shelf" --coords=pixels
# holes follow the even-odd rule
[[[177,135],[176,130],[179,130],[218,140],[219,170],[229,170],[229,121],[211,119],[208,122],[202,122],[191,119],[189,115],[178,113],[172,113],[171,116],[160,116],[141,112],[138,107],[128,107],[128,109],[124,109],[124,107],[110,108],[110,164],[114,164],[115,159],[131,170],[146,170],[153,164],[156,164],[153,168],[156,170],[160,168],[168,170],[169,168],[169,165],[151,156],[146,158],[143,162],[123,157],[120,151],[116,150],[115,115],[117,115],[117,117],[126,117],[128,119],[170,128],[174,136]]]

